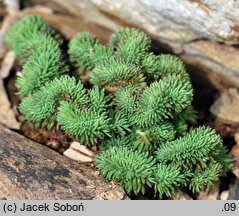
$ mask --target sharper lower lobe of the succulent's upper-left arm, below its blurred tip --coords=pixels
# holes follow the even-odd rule
[[[31,55],[17,79],[18,94],[26,96],[39,90],[46,82],[67,72],[59,43],[49,35],[36,34],[31,44]]]

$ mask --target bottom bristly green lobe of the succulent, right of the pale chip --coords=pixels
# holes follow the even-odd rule
[[[108,180],[122,183],[128,193],[144,193],[146,186],[153,185],[155,158],[146,152],[132,151],[122,146],[112,147],[104,151],[97,162],[102,175]]]

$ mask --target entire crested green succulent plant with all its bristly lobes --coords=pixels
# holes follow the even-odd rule
[[[193,88],[179,58],[151,53],[150,38],[137,29],[113,33],[108,46],[82,32],[69,43],[75,69],[70,76],[59,41],[35,16],[6,35],[24,63],[16,85],[28,121],[58,126],[87,146],[97,144],[101,174],[128,193],[197,193],[230,170],[215,130],[192,128]]]

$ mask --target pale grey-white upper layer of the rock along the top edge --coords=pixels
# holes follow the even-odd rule
[[[26,1],[27,2],[27,1]],[[209,38],[239,43],[238,8],[235,0],[28,0],[83,16],[89,21],[117,28],[109,14],[134,24],[158,38],[189,42]],[[223,7],[222,7],[223,5]]]

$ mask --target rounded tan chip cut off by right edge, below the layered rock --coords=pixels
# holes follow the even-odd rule
[[[239,94],[234,88],[226,90],[210,107],[210,111],[227,124],[239,123]]]

